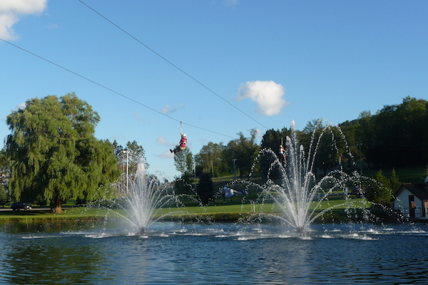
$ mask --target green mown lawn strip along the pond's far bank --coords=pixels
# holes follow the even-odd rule
[[[213,205],[200,207],[196,206],[195,203],[186,207],[170,207],[165,209],[159,209],[157,216],[164,216],[163,220],[203,220],[210,219],[218,222],[232,222],[238,219],[243,219],[250,216],[257,216],[260,213],[263,214],[275,214],[281,215],[282,209],[277,204],[265,203],[265,204],[250,204],[250,200],[257,200],[256,194],[252,195],[240,195],[213,203]],[[322,201],[315,212],[320,212],[328,207],[335,207],[338,204],[345,202],[343,196],[330,197],[328,201]],[[325,219],[344,219],[345,209],[347,207],[370,207],[371,204],[365,204],[362,199],[352,199],[352,205],[341,205],[335,207],[331,211],[325,214]],[[317,201],[312,202],[311,209],[316,207]],[[102,209],[102,208],[87,208],[87,207],[72,207],[71,205],[65,205],[63,207],[63,213],[51,214],[49,209],[34,207],[31,210],[20,210],[20,211],[0,211],[0,222],[44,222],[44,221],[76,221],[76,220],[100,220],[109,218],[118,218],[119,215],[127,216],[128,213],[123,209]]]

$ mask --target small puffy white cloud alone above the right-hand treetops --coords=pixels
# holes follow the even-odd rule
[[[250,98],[258,104],[258,113],[260,115],[278,115],[281,109],[288,105],[288,102],[282,98],[285,95],[285,89],[281,84],[273,81],[247,81],[241,85],[236,98],[243,100]]]

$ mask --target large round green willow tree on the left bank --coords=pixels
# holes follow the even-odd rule
[[[111,143],[94,137],[99,120],[74,93],[27,100],[7,116],[12,197],[48,201],[54,213],[68,199],[103,197],[120,173]]]

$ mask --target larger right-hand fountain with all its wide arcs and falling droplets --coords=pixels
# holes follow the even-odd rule
[[[366,216],[368,212],[365,209],[366,207],[361,207],[361,204],[363,206],[364,204],[367,205],[366,199],[359,199],[355,203],[355,199],[351,199],[351,196],[347,193],[348,188],[352,188],[354,185],[361,185],[363,181],[367,182],[368,177],[362,177],[357,172],[348,175],[342,170],[340,162],[337,163],[335,170],[328,172],[322,178],[316,177],[314,170],[315,158],[320,149],[322,136],[332,130],[332,125],[321,127],[321,123],[319,121],[319,125],[315,126],[309,149],[305,152],[304,147],[297,140],[297,133],[294,130],[295,123],[294,121],[292,122],[291,134],[286,141],[287,162],[285,164],[277,158],[272,150],[262,150],[260,154],[260,157],[263,157],[263,155],[268,155],[271,159],[275,157],[272,165],[270,165],[267,175],[268,180],[265,185],[260,187],[262,191],[260,204],[273,204],[279,207],[282,212],[280,215],[262,213],[261,216],[280,219],[283,224],[289,225],[300,233],[306,232],[310,224],[316,219],[322,218],[326,212],[332,212],[332,209],[337,207],[348,208],[347,212],[352,212],[349,210],[351,208],[360,207]],[[320,132],[316,132],[317,130],[320,130]],[[340,131],[340,129],[338,130]],[[330,133],[332,134],[332,132]],[[345,135],[341,131],[340,134],[346,144]],[[332,136],[330,146],[337,151],[334,136]],[[346,148],[349,150],[349,147]],[[271,173],[278,172],[280,173],[279,180],[274,181],[269,178]],[[371,182],[373,183],[374,181]],[[248,185],[255,187],[255,183],[252,182],[247,182],[246,185],[246,187],[250,187]],[[230,185],[230,187],[234,186]],[[334,195],[336,195],[336,198],[339,195],[342,196],[341,202],[330,203],[329,197],[334,197]],[[325,204],[327,204],[327,207],[325,207]]]

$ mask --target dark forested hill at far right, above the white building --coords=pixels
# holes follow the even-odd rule
[[[428,101],[407,96],[372,115],[340,124],[348,144],[361,145],[366,162],[377,167],[424,165],[428,162]]]

